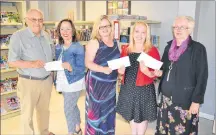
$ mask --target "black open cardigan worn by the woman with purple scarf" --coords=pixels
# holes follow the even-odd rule
[[[161,61],[164,62],[163,73],[168,70],[171,63],[168,58],[171,43],[172,41],[168,42],[162,56]],[[188,48],[175,64],[177,65],[177,71],[174,77],[175,89],[172,91],[172,102],[183,109],[189,109],[192,102],[202,104],[208,79],[205,47],[199,42],[190,40]],[[161,77],[159,92],[161,92],[162,81],[166,81],[164,75]]]

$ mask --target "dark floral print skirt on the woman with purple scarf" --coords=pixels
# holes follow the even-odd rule
[[[171,98],[162,97],[155,135],[198,135],[198,114],[174,105]]]

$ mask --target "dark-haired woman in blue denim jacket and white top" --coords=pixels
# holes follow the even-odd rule
[[[64,96],[64,111],[68,134],[82,134],[80,111],[77,107],[81,90],[85,87],[84,47],[78,42],[73,22],[63,19],[57,26],[59,44],[56,46],[56,60],[62,61],[63,71],[57,71],[56,89]]]

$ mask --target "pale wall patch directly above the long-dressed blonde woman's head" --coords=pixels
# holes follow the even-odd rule
[[[95,21],[106,14],[106,1],[86,1],[86,21]]]

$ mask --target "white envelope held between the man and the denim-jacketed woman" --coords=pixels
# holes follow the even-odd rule
[[[46,69],[46,71],[64,70],[64,68],[62,67],[62,61],[47,62],[44,68]]]

